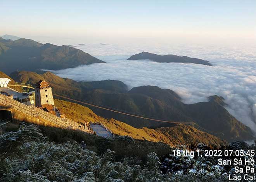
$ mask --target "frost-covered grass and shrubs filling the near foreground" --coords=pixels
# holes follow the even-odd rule
[[[108,144],[111,142],[116,143],[116,146]],[[143,143],[149,144],[146,141]],[[150,151],[150,146],[142,148],[127,136],[104,139],[100,145],[105,145],[105,150],[97,153],[90,149],[83,150],[76,141],[51,142],[49,138],[43,137],[36,125],[22,124],[17,131],[0,135],[0,181],[217,182],[227,181],[227,174],[234,173],[233,166],[221,167],[216,164],[216,158],[175,157],[167,154],[165,157],[159,151],[158,155]],[[195,147],[202,151],[206,148],[209,147],[203,144]],[[237,142],[227,148],[248,149],[255,148],[255,145]],[[128,156],[131,150],[137,150],[137,153]],[[166,152],[166,149],[162,150]],[[140,154],[144,155],[145,160]]]

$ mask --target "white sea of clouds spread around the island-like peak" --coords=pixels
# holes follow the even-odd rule
[[[142,85],[168,88],[185,103],[207,101],[208,96],[217,94],[225,98],[227,110],[234,117],[256,131],[256,46],[74,46],[107,63],[52,72],[76,81],[120,80],[130,89]],[[201,58],[214,66],[126,60],[142,51]]]

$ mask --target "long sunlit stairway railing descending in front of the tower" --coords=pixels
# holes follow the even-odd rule
[[[12,98],[9,98],[3,94],[0,94],[0,103],[6,106],[10,106],[11,108],[22,112],[26,115],[29,115],[31,117],[40,117],[43,118],[49,122],[52,122],[56,125],[59,125],[60,127],[64,127],[67,129],[74,129],[74,130],[81,130],[83,132],[92,133],[90,130],[85,129],[85,127],[81,124],[78,124],[74,122],[73,120],[70,120],[68,118],[59,118],[55,115],[52,115],[51,113],[45,112],[44,110],[37,108],[35,106],[27,106],[25,104],[22,104],[16,100],[13,100]]]

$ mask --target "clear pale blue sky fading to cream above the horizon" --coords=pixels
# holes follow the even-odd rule
[[[1,0],[0,36],[89,43],[254,43],[255,0]]]

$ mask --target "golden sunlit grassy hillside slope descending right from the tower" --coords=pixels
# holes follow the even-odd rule
[[[173,127],[165,127],[158,129],[148,129],[146,127],[137,129],[124,122],[120,122],[113,118],[102,118],[92,112],[89,108],[63,100],[55,100],[58,109],[72,120],[80,123],[102,122],[115,134],[120,136],[130,136],[134,139],[148,140],[152,142],[163,142],[171,146],[190,145],[197,143],[205,143],[207,145],[226,144],[218,137],[206,132],[195,129],[189,125],[174,125]]]

